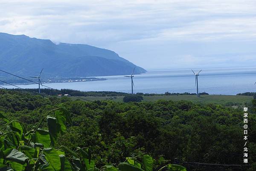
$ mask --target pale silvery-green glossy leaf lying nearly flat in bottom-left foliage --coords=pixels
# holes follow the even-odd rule
[[[21,164],[24,164],[26,162],[26,160],[29,159],[28,157],[26,157],[26,155],[24,153],[17,151],[15,148],[14,149],[9,148],[6,151],[4,151],[3,153],[4,153],[4,158],[6,160],[18,162]]]

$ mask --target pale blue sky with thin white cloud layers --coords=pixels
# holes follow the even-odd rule
[[[0,32],[110,49],[146,70],[256,66],[256,0],[0,0]]]

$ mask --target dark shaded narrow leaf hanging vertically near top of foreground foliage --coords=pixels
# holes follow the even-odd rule
[[[47,116],[47,124],[50,134],[51,143],[54,146],[58,133],[60,133],[60,126],[57,123],[57,119],[52,116]]]

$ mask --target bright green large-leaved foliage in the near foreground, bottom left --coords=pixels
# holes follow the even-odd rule
[[[51,116],[53,111],[55,115]],[[89,148],[77,147],[72,151],[65,146],[53,148],[58,134],[66,132],[66,122],[71,124],[69,113],[64,109],[51,110],[45,116],[49,130],[40,129],[41,123],[34,130],[26,131],[19,121],[9,121],[0,115],[7,124],[0,132],[0,171],[153,171],[154,161],[149,155],[126,157],[117,167],[107,164],[96,168]],[[162,169],[186,171],[180,165],[165,165]]]

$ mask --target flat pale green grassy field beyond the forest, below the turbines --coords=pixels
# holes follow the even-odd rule
[[[70,97],[72,99],[77,99],[76,97]],[[122,102],[123,96],[117,97],[82,97],[87,100],[113,100],[117,102]],[[157,101],[160,99],[164,100],[188,100],[194,102],[204,102],[204,103],[217,103],[227,105],[228,103],[244,104],[245,102],[250,102],[253,96],[232,96],[232,95],[202,95],[201,97],[192,95],[180,95],[180,96],[143,96],[144,101]]]

